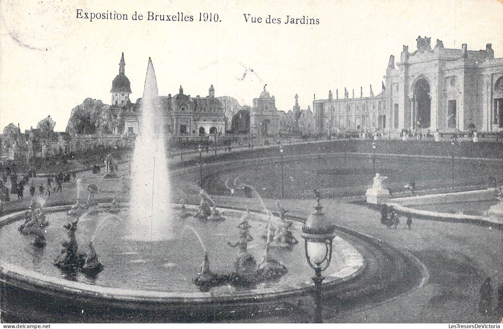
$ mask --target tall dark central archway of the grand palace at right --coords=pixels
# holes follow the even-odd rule
[[[425,78],[418,79],[414,85],[412,106],[413,128],[430,128],[431,103],[430,84]]]

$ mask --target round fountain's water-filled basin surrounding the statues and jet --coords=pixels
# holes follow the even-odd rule
[[[110,204],[100,205],[102,208],[108,206]],[[123,209],[125,206],[121,205]],[[207,292],[199,291],[191,281],[197,275],[201,265],[203,250],[190,230],[185,230],[183,234],[180,231],[174,234],[183,239],[137,242],[141,247],[140,250],[125,252],[122,249],[122,241],[124,240],[117,243],[116,235],[114,236],[110,232],[102,237],[97,235],[93,244],[101,263],[104,265],[103,272],[96,278],[87,278],[84,275],[64,276],[52,265],[52,260],[58,253],[59,237],[64,234],[64,229],[61,226],[71,218],[66,215],[66,211],[70,207],[71,205],[45,209],[46,213],[50,214],[48,219],[51,225],[47,227],[47,246],[43,252],[37,251],[29,244],[30,239],[19,234],[17,225],[13,223],[13,221],[21,219],[24,212],[13,213],[0,219],[0,241],[3,246],[0,252],[0,282],[3,292],[7,294],[5,296],[8,297],[4,299],[3,310],[9,308],[9,298],[14,298],[19,294],[21,296],[18,296],[20,298],[18,302],[21,305],[27,296],[36,294],[38,300],[43,300],[40,298],[45,296],[49,300],[55,301],[78,300],[80,303],[85,302],[88,305],[106,304],[119,308],[144,308],[154,303],[157,305],[156,307],[163,305],[162,307],[173,309],[173,307],[187,307],[195,304],[218,303],[225,305],[228,303],[266,302],[279,297],[305,294],[312,289],[312,270],[305,260],[303,243],[299,243],[292,250],[273,253],[273,256],[288,268],[288,273],[279,280],[260,283],[252,287],[225,285],[211,288]],[[187,206],[187,208],[194,214],[197,212],[195,206]],[[190,222],[197,227],[209,252],[211,270],[215,273],[225,273],[232,270],[236,251],[221,242],[236,238],[238,232],[236,226],[239,224],[243,212],[223,208],[218,210],[226,218],[224,222],[201,222],[195,218],[189,218],[182,224],[185,226],[187,222]],[[174,213],[176,213],[176,209]],[[177,220],[175,220],[175,227],[177,227],[176,222]],[[260,233],[267,224],[267,217],[263,214],[252,213],[249,222],[253,226],[250,233],[255,239],[249,243],[248,250],[260,264],[265,249],[265,241],[260,237]],[[196,225],[198,223],[199,226]],[[178,226],[182,227],[182,224]],[[294,235],[300,239],[301,224],[295,222],[292,227]],[[119,235],[124,236],[123,233]],[[77,239],[79,239],[78,229]],[[184,243],[186,246],[190,245],[191,248],[185,248]],[[167,249],[166,246],[170,244],[176,248]],[[79,243],[80,245],[83,248],[84,244]],[[106,246],[109,246],[109,249],[106,249]],[[111,252],[113,248],[110,246],[114,246],[115,253]],[[157,252],[148,249],[152,247],[155,247]],[[166,250],[162,248],[166,248]],[[180,251],[183,252],[180,253]],[[334,251],[332,264],[324,272],[326,278],[323,284],[327,287],[355,278],[365,266],[362,255],[340,237],[334,239]],[[44,255],[44,253],[48,255]],[[152,257],[146,258],[145,255],[149,254]],[[126,264],[124,260],[131,261],[131,255],[134,255],[133,261],[138,262]],[[160,257],[160,255],[167,255],[167,258]],[[140,260],[144,262],[139,262]],[[171,262],[170,260],[175,261]],[[169,263],[174,265],[170,266]],[[135,267],[134,264],[138,268],[137,272],[128,272]],[[122,276],[118,269],[122,269]],[[176,273],[179,276],[177,280],[174,280]],[[15,301],[12,300],[11,305],[14,303]]]

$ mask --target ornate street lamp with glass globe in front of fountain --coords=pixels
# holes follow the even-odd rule
[[[332,258],[332,241],[336,236],[333,232],[335,226],[332,225],[325,214],[321,212],[319,198],[316,199],[316,206],[314,212],[307,217],[304,225],[302,226],[302,233],[300,234],[305,242],[305,254],[307,263],[314,270],[312,280],[314,282],[315,292],[315,314],[314,319],[316,323],[322,323],[322,309],[321,309],[321,283],[324,277],[321,272],[330,266]]]

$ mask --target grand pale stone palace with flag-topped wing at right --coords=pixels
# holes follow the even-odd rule
[[[398,135],[503,130],[503,58],[485,50],[444,48],[418,37],[417,49],[403,46],[400,62],[390,56],[382,92],[370,97],[313,101],[316,133],[340,130]],[[337,92],[336,92],[337,93]],[[338,94],[338,93],[337,93]]]

